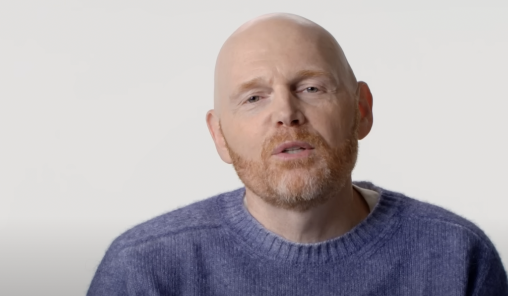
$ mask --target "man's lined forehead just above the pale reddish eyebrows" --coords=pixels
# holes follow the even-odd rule
[[[223,80],[228,85],[275,73],[291,76],[301,70],[335,75],[333,43],[322,34],[305,30],[257,31],[234,40],[225,52]]]

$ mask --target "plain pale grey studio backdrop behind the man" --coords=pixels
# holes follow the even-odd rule
[[[205,124],[227,37],[270,12],[374,96],[355,180],[479,225],[508,265],[506,1],[2,1],[0,294],[84,295],[123,231],[242,186]]]

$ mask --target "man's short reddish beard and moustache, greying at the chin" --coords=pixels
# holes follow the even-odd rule
[[[338,147],[330,147],[321,135],[303,127],[280,129],[264,141],[260,161],[243,158],[225,141],[247,189],[276,207],[305,211],[325,203],[351,180],[358,155],[358,123],[357,108],[353,128]],[[224,136],[220,122],[219,129]],[[285,141],[304,141],[314,150],[306,158],[277,160],[272,151]]]

